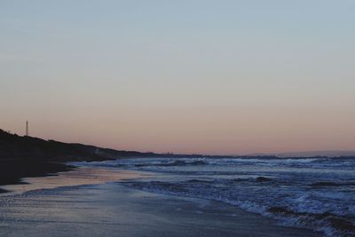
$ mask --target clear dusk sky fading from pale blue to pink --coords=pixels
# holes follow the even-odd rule
[[[355,150],[355,1],[0,0],[0,128],[115,149]]]

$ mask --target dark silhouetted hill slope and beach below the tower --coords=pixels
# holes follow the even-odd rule
[[[18,184],[20,178],[47,176],[74,169],[64,162],[102,161],[149,155],[154,154],[20,137],[0,130],[0,186]],[[2,192],[4,190],[0,188],[0,193]]]

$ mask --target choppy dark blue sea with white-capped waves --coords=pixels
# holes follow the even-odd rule
[[[355,158],[135,158],[85,165],[155,172],[124,185],[222,201],[327,236],[355,236]]]

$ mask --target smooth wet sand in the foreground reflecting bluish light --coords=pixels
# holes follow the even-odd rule
[[[112,170],[86,170],[101,183]],[[91,171],[91,175],[89,174]],[[107,171],[107,172],[106,172]],[[148,175],[122,170],[117,179]],[[64,183],[73,182],[62,174]],[[105,177],[105,178],[104,178]],[[61,179],[61,178],[59,178]],[[45,183],[45,178],[43,179]],[[55,183],[55,182],[51,182]],[[63,185],[63,184],[62,184]],[[37,183],[37,186],[40,186]],[[19,192],[19,191],[18,191]],[[150,194],[119,183],[66,186],[0,196],[0,236],[319,236],[216,201]]]

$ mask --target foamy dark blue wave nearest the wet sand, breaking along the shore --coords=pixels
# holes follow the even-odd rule
[[[268,181],[270,180],[265,180],[265,182]],[[321,231],[328,236],[353,236],[355,234],[355,217],[351,215],[351,212],[338,210],[340,213],[335,213],[327,208],[320,208],[319,202],[310,201],[312,198],[310,194],[301,194],[294,199],[272,201],[267,196],[260,196],[263,192],[260,192],[257,198],[257,194],[254,196],[250,196],[251,194],[236,195],[230,192],[231,189],[225,189],[227,186],[221,186],[221,182],[217,180],[196,178],[187,179],[185,182],[149,181],[129,182],[124,185],[158,194],[221,201],[265,217],[272,217],[280,221],[281,225],[309,228]],[[264,201],[258,201],[263,198]],[[284,206],[273,205],[277,202],[283,203]]]

